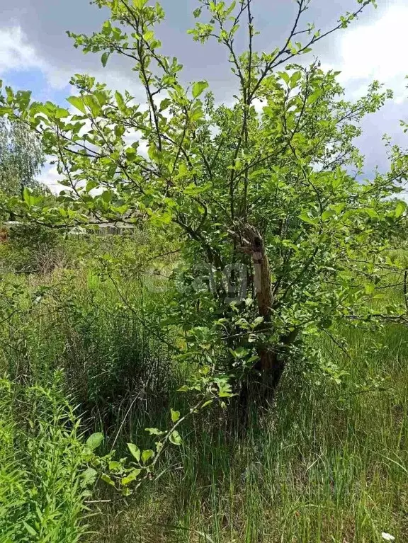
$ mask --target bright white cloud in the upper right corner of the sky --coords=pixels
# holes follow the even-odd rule
[[[382,17],[365,25],[356,25],[339,34],[339,81],[353,86],[356,95],[378,79],[395,91],[395,101],[407,97],[407,21],[408,6],[390,6]],[[358,88],[356,88],[358,87]]]

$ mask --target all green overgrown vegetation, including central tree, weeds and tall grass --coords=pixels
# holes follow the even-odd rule
[[[65,188],[1,202],[18,223],[0,246],[0,542],[404,541],[408,155],[357,181],[361,120],[391,91],[347,101],[336,72],[295,64],[375,2],[318,31],[298,0],[267,54],[251,0],[199,0],[191,35],[227,48],[229,107],[162,55],[159,4],[94,3],[101,32],[70,35],[103,66],[130,58],[145,106],[89,76],[71,109],[0,94]]]

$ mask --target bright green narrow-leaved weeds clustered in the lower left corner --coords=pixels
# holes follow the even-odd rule
[[[0,381],[1,541],[74,543],[86,531],[79,421],[57,385]]]

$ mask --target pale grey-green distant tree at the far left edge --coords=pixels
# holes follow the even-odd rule
[[[0,190],[21,195],[24,187],[36,185],[43,164],[38,137],[21,122],[0,119]]]

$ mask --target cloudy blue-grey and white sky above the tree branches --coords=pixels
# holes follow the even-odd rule
[[[216,42],[205,45],[193,42],[187,34],[193,28],[193,10],[198,0],[162,0],[166,20],[158,34],[163,51],[179,58],[186,82],[207,79],[217,101],[231,103],[237,83],[229,72],[227,54]],[[304,25],[315,23],[329,29],[341,14],[353,11],[356,0],[312,0],[304,14]],[[281,45],[293,25],[295,0],[253,0],[256,48],[272,51]],[[0,0],[0,79],[16,89],[33,91],[39,101],[65,104],[72,95],[69,79],[73,74],[86,73],[110,88],[127,88],[144,101],[137,74],[127,62],[111,57],[103,69],[100,55],[84,55],[72,47],[66,31],[92,33],[101,28],[107,11],[89,4],[89,0]],[[382,136],[408,147],[408,137],[399,127],[399,120],[408,120],[408,59],[406,26],[407,0],[378,0],[378,8],[368,6],[347,30],[320,42],[310,53],[310,61],[319,57],[322,66],[341,71],[341,84],[346,96],[362,96],[373,79],[392,88],[394,99],[380,112],[363,121],[363,135],[358,146],[365,154],[365,175],[373,176],[375,167],[387,168]],[[303,62],[305,57],[303,57]],[[55,189],[57,171],[45,166],[40,181]]]

